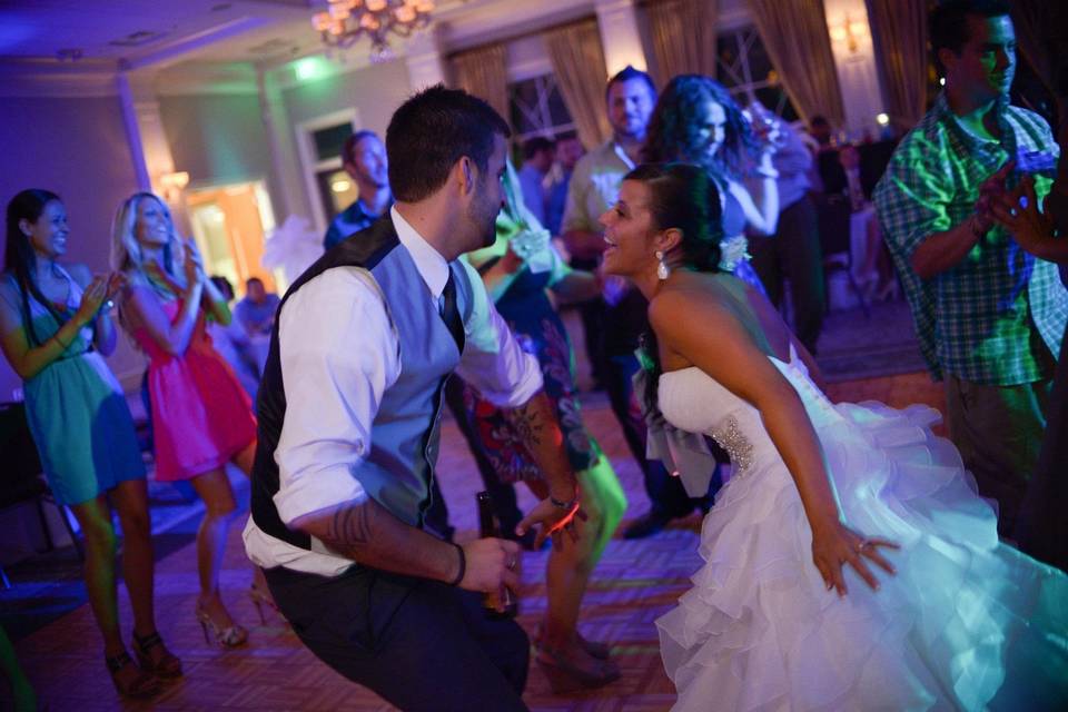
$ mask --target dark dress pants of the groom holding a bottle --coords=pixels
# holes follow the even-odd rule
[[[522,712],[530,640],[485,617],[482,597],[364,566],[327,578],[265,570],[294,632],[319,660],[411,712]]]

